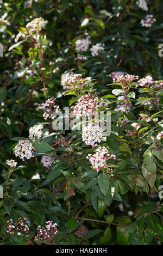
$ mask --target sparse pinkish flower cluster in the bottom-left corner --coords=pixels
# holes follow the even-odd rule
[[[18,219],[18,222],[17,222],[17,225],[13,225],[13,220],[10,219],[8,221],[8,225],[6,227],[6,231],[9,235],[14,235],[14,234],[17,234],[17,235],[23,235],[22,234],[22,231],[25,232],[25,233],[28,233],[29,232],[29,227],[28,227],[28,221],[26,218],[19,218]]]

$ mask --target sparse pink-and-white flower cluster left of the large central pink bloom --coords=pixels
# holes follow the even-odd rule
[[[43,109],[44,111],[43,118],[45,120],[47,120],[48,118],[52,118],[54,112],[58,113],[60,111],[59,106],[55,105],[55,100],[55,98],[51,97],[45,103],[41,103],[39,105],[40,109]]]

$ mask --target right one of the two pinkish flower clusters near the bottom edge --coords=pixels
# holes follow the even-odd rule
[[[38,226],[37,235],[35,236],[35,241],[43,240],[44,242],[51,243],[53,236],[58,233],[57,223],[53,221],[47,221],[45,227]]]

